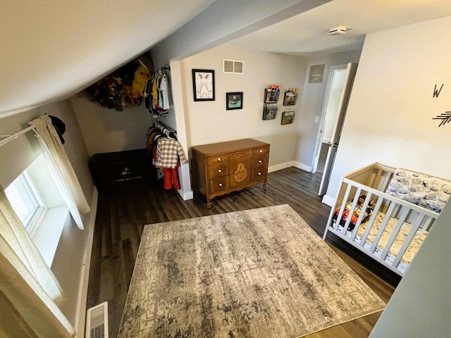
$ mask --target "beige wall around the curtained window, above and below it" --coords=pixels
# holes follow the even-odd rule
[[[61,118],[66,124],[66,133],[63,134],[63,138],[66,141],[64,149],[68,154],[70,163],[73,165],[87,201],[91,204],[94,184],[92,183],[87,167],[87,149],[70,101],[49,104],[32,111],[19,113],[7,118],[1,118],[0,134],[12,134],[13,132],[18,132],[24,127],[29,126],[27,124],[28,121],[44,113]],[[4,187],[10,184],[39,154],[41,154],[41,150],[33,132],[27,132],[27,134],[18,137],[18,139],[1,146],[1,184],[4,185]],[[95,211],[92,212],[95,213]],[[54,263],[51,266],[51,270],[56,275],[56,278],[60,282],[61,287],[66,292],[67,296],[66,302],[61,306],[61,311],[63,311],[70,323],[75,326],[78,325],[78,310],[80,296],[82,296],[81,282],[86,263],[84,261],[85,250],[88,249],[90,244],[87,237],[89,232],[93,231],[92,228],[88,227],[90,215],[91,213],[83,215],[84,223],[87,226],[85,230],[79,230],[73,221],[65,224],[63,234],[56,250]],[[93,225],[94,224],[92,224],[92,226]],[[75,327],[75,330],[77,329],[78,327]]]

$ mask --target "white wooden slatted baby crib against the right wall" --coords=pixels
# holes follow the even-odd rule
[[[439,213],[385,193],[394,173],[372,163],[343,176],[323,239],[332,232],[402,276]]]

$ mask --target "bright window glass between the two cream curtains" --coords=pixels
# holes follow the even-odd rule
[[[25,170],[5,189],[11,206],[27,232],[33,234],[39,224],[39,216],[46,211],[36,187]]]

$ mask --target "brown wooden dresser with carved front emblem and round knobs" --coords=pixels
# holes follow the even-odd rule
[[[268,187],[269,144],[256,139],[193,146],[192,184],[194,192],[211,199],[252,185]]]

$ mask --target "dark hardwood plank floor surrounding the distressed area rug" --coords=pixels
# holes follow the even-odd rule
[[[323,235],[330,207],[321,204],[317,192],[321,174],[286,168],[268,175],[268,190],[261,184],[217,197],[211,209],[195,196],[183,201],[175,190],[163,190],[162,182],[147,187],[99,193],[94,230],[87,307],[109,302],[110,337],[116,337],[133,265],[144,225],[182,220],[250,208],[289,204],[317,232]],[[357,249],[328,235],[326,242],[378,294],[388,301],[400,277]],[[381,313],[311,334],[310,338],[366,338]]]

